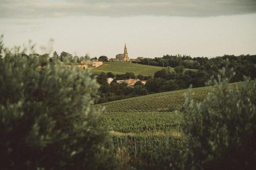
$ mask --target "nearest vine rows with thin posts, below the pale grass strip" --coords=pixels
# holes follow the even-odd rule
[[[185,138],[167,135],[112,136],[110,144],[112,152],[126,162],[123,165],[125,169],[169,169],[170,163],[176,164],[179,161],[177,152],[186,149],[185,142]]]

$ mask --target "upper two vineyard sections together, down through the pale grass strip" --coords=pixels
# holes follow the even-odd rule
[[[244,82],[232,83],[239,87]],[[214,87],[199,87],[191,89],[196,101],[202,101]],[[124,99],[95,105],[105,107],[105,114],[100,125],[113,136],[176,136],[179,137],[179,120],[175,110],[179,110],[185,101],[188,89],[168,91],[136,98]],[[179,116],[179,115],[178,115]]]

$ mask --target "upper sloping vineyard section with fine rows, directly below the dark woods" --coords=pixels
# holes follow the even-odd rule
[[[230,85],[242,85],[231,83]],[[194,98],[197,101],[203,100],[214,87],[192,88]],[[129,98],[119,101],[99,104],[104,106],[106,112],[170,112],[179,109],[185,101],[185,93],[188,89],[168,91],[156,94],[143,95],[136,98]]]

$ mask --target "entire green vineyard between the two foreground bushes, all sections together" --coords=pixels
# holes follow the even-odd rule
[[[240,85],[243,83],[230,86]],[[202,101],[212,90],[214,87],[209,86],[193,88],[191,92],[195,101]],[[172,157],[173,153],[186,149],[178,110],[187,92],[188,89],[169,91],[95,105],[105,108],[99,123],[111,134],[112,151],[127,161],[124,168],[161,169],[178,159]]]

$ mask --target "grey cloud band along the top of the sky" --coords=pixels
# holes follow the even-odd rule
[[[255,0],[0,0],[1,18],[63,16],[207,17],[256,13]]]

